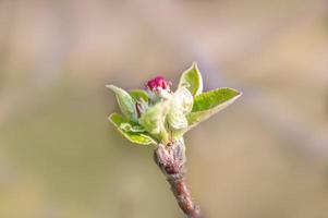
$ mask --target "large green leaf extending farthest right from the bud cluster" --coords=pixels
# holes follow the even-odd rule
[[[218,88],[196,96],[193,110],[187,114],[189,129],[224,109],[241,95],[240,92],[232,88]]]

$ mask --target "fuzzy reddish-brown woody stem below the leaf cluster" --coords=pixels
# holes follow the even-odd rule
[[[159,144],[154,153],[155,162],[166,175],[175,199],[187,218],[202,218],[199,207],[193,202],[185,182],[185,147],[182,141]]]

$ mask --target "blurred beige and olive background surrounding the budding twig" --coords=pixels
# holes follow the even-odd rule
[[[328,217],[325,0],[1,0],[0,217],[183,217],[106,84],[197,61],[235,104],[186,137],[207,217]]]

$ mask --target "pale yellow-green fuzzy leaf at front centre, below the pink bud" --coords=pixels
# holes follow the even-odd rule
[[[167,141],[166,117],[170,109],[170,100],[161,100],[146,110],[139,118],[139,123],[151,135],[156,135],[161,141]]]

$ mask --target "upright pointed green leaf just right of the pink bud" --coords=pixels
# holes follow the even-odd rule
[[[186,87],[193,96],[202,94],[203,78],[195,62],[190,69],[182,73],[178,87],[180,88],[182,86]]]

